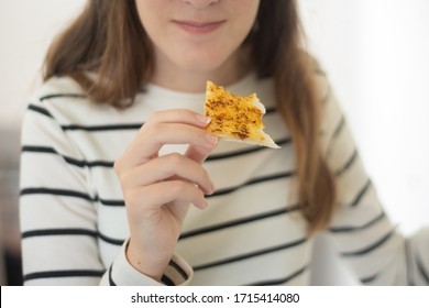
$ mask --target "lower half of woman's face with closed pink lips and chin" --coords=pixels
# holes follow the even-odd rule
[[[260,0],[136,0],[136,6],[155,46],[156,70],[207,75],[237,65],[232,58]]]

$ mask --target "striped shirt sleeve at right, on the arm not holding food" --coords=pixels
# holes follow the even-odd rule
[[[338,187],[329,237],[365,285],[428,285],[429,229],[408,238],[393,224],[367,176],[356,145],[322,72],[322,146]]]

